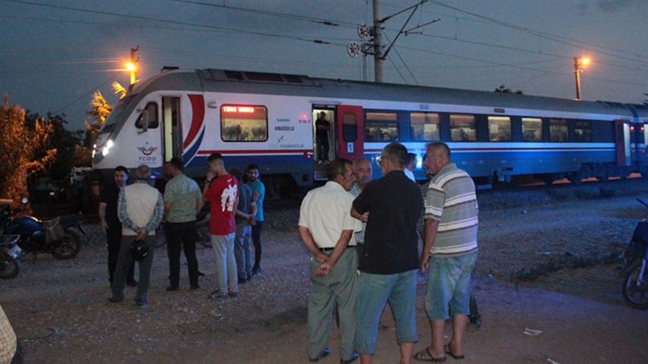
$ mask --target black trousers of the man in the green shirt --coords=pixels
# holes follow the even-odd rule
[[[164,226],[167,234],[168,280],[177,288],[180,280],[180,250],[184,248],[189,284],[198,287],[198,259],[196,259],[196,222],[168,222]]]

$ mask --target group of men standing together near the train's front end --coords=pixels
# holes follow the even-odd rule
[[[156,232],[162,224],[169,263],[167,291],[180,289],[180,255],[183,251],[189,270],[189,289],[200,288],[196,259],[196,216],[209,203],[209,234],[216,261],[216,287],[209,297],[237,297],[238,284],[249,282],[261,271],[260,233],[263,222],[265,187],[259,179],[259,166],[249,165],[248,183],[238,170],[227,172],[222,155],[207,158],[207,180],[203,190],[185,176],[180,159],[165,163],[167,183],[163,193],[149,185],[151,172],[146,165],[135,170],[135,183],[126,185],[128,169],[118,166],[114,185],[102,196],[99,216],[108,240],[110,302],[124,301],[124,285],[136,286],[137,306],[148,305],[148,282]],[[251,245],[255,247],[253,255]],[[139,282],[133,277],[135,260]]]

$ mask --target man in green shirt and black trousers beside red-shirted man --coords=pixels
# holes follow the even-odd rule
[[[202,209],[203,198],[198,183],[185,176],[182,161],[172,158],[165,164],[165,172],[172,179],[164,192],[164,208],[167,225],[168,279],[167,291],[179,290],[180,249],[185,250],[189,285],[198,288],[198,260],[196,259],[196,214]]]

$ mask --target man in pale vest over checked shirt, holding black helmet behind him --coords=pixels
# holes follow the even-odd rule
[[[137,306],[145,308],[148,299],[148,280],[151,275],[153,244],[156,240],[156,228],[162,221],[164,202],[156,188],[148,185],[151,170],[141,165],[135,170],[137,182],[122,188],[117,203],[117,216],[122,223],[122,242],[119,258],[115,268],[115,281],[112,285],[113,296],[110,302],[124,301],[124,281],[128,266],[135,258],[130,252],[130,245],[135,240],[143,240],[148,245],[148,255],[139,261],[139,282],[135,301]]]

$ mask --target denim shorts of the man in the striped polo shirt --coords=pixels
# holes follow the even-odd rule
[[[430,256],[425,296],[425,309],[430,320],[450,318],[448,306],[452,307],[454,315],[470,315],[470,274],[477,255],[477,251],[472,251],[460,256]]]

